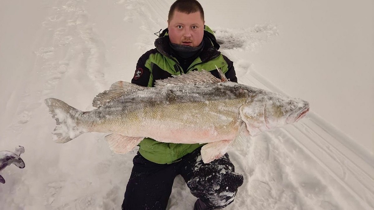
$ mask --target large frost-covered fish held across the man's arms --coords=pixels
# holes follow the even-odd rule
[[[117,81],[93,99],[92,111],[79,111],[55,98],[45,99],[56,120],[53,140],[68,142],[82,133],[105,136],[116,153],[126,153],[145,137],[159,142],[208,143],[204,163],[220,158],[239,133],[251,136],[300,120],[309,103],[230,82],[207,71],[157,80],[155,87]]]

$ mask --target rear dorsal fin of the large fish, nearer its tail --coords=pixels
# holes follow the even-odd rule
[[[109,103],[115,99],[120,98],[126,93],[132,93],[140,90],[145,90],[147,87],[139,86],[137,84],[128,83],[125,81],[116,81],[109,90],[99,93],[92,101],[92,106],[99,108],[100,106]]]

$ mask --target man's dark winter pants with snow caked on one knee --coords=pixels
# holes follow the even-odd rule
[[[208,164],[201,160],[200,148],[172,164],[153,163],[139,153],[133,162],[123,210],[165,210],[177,175],[183,177],[192,195],[212,209],[232,203],[243,184],[243,176],[234,172],[227,153]]]

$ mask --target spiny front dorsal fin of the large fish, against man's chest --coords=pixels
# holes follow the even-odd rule
[[[220,71],[220,70],[218,70]],[[226,78],[226,77],[225,77]],[[189,83],[220,83],[221,80],[208,71],[191,71],[188,74],[172,75],[172,78],[156,80],[155,87],[162,87],[168,84],[189,84]]]

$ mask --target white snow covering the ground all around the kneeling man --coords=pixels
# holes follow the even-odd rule
[[[3,2],[0,150],[24,146],[26,167],[1,170],[0,209],[120,209],[136,150],[114,154],[99,133],[53,142],[44,99],[91,110],[130,81],[172,2]],[[232,148],[244,184],[226,209],[374,209],[373,2],[289,4],[202,1],[240,83],[310,102],[304,119]],[[168,209],[195,200],[177,176]]]

